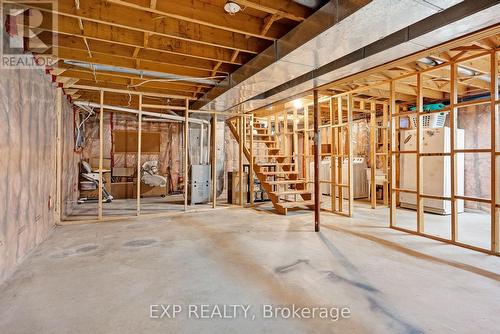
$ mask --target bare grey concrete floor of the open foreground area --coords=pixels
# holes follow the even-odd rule
[[[58,227],[0,286],[2,333],[493,333],[500,258],[356,218],[220,209]],[[250,304],[256,319],[150,319],[151,304]],[[262,319],[263,304],[351,318]]]

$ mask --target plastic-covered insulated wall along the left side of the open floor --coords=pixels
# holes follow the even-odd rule
[[[41,70],[0,70],[0,281],[56,222],[55,93]]]

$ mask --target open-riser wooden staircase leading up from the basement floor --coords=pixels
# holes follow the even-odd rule
[[[234,119],[229,120],[228,125],[236,141],[241,143],[236,122],[237,120]],[[250,148],[247,145],[251,135],[253,135],[254,146],[262,143],[267,149],[265,155],[253,155],[254,161],[251,162],[251,166],[276,211],[286,215],[288,209],[291,208],[314,209],[312,193],[307,190],[306,182],[299,178],[296,170],[298,164],[294,161],[294,156],[281,152],[277,136],[262,123],[254,123],[253,133],[251,133],[251,127],[245,128],[243,153],[248,161],[251,161]]]

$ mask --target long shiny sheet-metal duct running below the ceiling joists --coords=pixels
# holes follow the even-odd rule
[[[260,62],[265,66],[245,69],[244,65],[240,72],[247,71],[250,76],[233,80],[226,88],[215,87],[193,108],[247,112],[264,107],[497,24],[498,3],[499,0],[377,0],[336,21],[335,10],[339,8],[330,2],[315,14],[323,14],[323,19],[329,17],[336,24],[305,43],[296,43],[300,40],[300,34],[296,34],[301,31],[297,28],[325,26],[313,14],[275,43],[274,61],[267,59],[269,54],[267,58],[265,53],[257,56],[253,65]],[[290,43],[280,57],[283,40],[293,40],[295,44]]]

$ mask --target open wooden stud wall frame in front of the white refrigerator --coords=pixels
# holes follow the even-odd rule
[[[435,68],[431,68],[428,70],[422,70],[420,72],[417,72],[417,111],[416,112],[400,112],[399,105],[395,104],[395,97],[396,97],[396,85],[395,85],[395,80],[398,80],[400,78],[394,78],[393,80],[390,81],[390,97],[389,97],[389,108],[390,108],[390,116],[391,116],[391,134],[390,134],[390,156],[391,156],[391,163],[390,163],[390,189],[391,189],[391,197],[390,197],[390,208],[391,208],[391,214],[390,214],[390,227],[395,228],[397,230],[401,230],[404,232],[408,233],[413,233],[419,236],[424,236],[427,238],[432,238],[436,240],[440,240],[446,243],[450,243],[453,245],[473,249],[476,251],[481,251],[484,253],[488,254],[496,254],[500,255],[500,250],[499,250],[499,217],[498,217],[498,208],[500,207],[499,205],[496,204],[496,178],[498,175],[496,175],[495,172],[495,158],[497,155],[499,155],[496,152],[496,141],[497,141],[497,132],[498,130],[496,129],[497,125],[497,112],[495,108],[498,108],[498,90],[496,87],[498,87],[498,63],[497,63],[497,58],[495,58],[495,53],[496,50],[490,51],[490,75],[491,75],[491,80],[490,80],[490,98],[488,99],[480,99],[480,100],[474,100],[474,101],[466,101],[466,102],[459,102],[458,101],[458,86],[459,86],[459,80],[458,80],[458,64],[455,61],[450,61],[447,63],[440,64],[440,67],[445,67],[445,66],[450,66],[450,105],[446,108],[446,110],[449,110],[449,120],[450,120],[450,152],[435,152],[435,153],[422,153],[422,126],[421,126],[421,121],[420,117],[422,115],[425,115],[426,113],[423,112],[423,75],[424,73],[434,70]],[[474,59],[477,57],[484,57],[485,54],[480,54],[480,55],[474,55],[469,57],[469,59]],[[464,59],[461,59],[460,62],[463,62]],[[414,74],[413,74],[414,75]],[[403,77],[409,77],[410,75],[405,75]],[[458,108],[463,108],[463,107],[468,107],[468,106],[474,106],[474,105],[481,105],[481,104],[490,104],[490,111],[491,111],[491,147],[489,149],[457,149],[455,142],[456,142],[456,127],[457,127],[457,111]],[[441,110],[443,111],[443,110]],[[402,116],[406,115],[417,115],[417,142],[416,142],[416,151],[399,151],[399,146],[398,146],[398,139],[397,139],[397,131],[399,130],[399,118]],[[460,194],[457,194],[457,159],[456,156],[457,154],[473,154],[473,153],[489,153],[491,155],[491,198],[486,199],[486,198],[477,198],[477,197],[471,197],[471,196],[463,196]],[[399,177],[399,166],[397,159],[399,159],[399,156],[401,154],[416,154],[416,167],[417,167],[417,189],[416,191],[411,191],[408,189],[400,189],[398,185],[398,177]],[[434,196],[434,195],[427,195],[423,194],[423,171],[422,171],[422,157],[425,156],[449,156],[450,157],[450,176],[451,176],[451,194],[449,197],[446,196]],[[405,228],[397,227],[396,226],[396,207],[398,205],[397,201],[397,196],[399,192],[406,192],[406,193],[412,193],[415,194],[417,197],[417,230],[416,231],[411,231]],[[424,229],[424,207],[423,207],[423,200],[425,198],[428,199],[437,199],[437,200],[444,200],[444,201],[450,201],[451,202],[451,237],[450,239],[445,239],[445,238],[440,238],[440,237],[435,237],[429,234],[425,233]],[[479,202],[479,203],[485,203],[485,204],[490,204],[491,209],[490,209],[490,214],[491,214],[491,248],[490,249],[485,249],[477,246],[472,246],[469,244],[464,244],[462,242],[458,241],[458,214],[457,214],[457,201],[462,200],[462,201],[473,201],[473,202]]]

